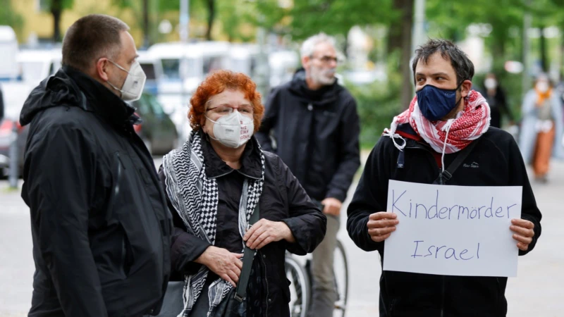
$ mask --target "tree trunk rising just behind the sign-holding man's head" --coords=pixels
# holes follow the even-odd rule
[[[413,98],[413,80],[410,59],[413,54],[411,51],[412,28],[413,28],[413,2],[414,0],[394,0],[394,3],[401,2],[401,58],[400,69],[403,85],[401,87],[401,107],[410,106]]]

